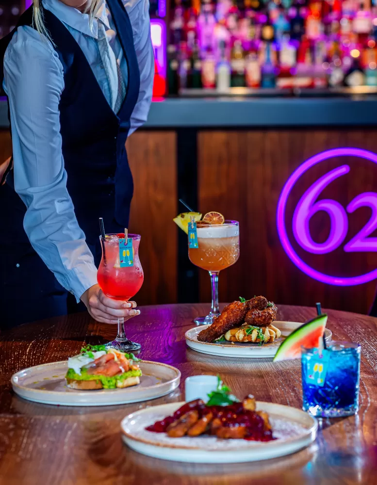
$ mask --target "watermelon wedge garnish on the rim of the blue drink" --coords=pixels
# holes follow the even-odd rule
[[[321,340],[325,333],[326,323],[327,315],[320,315],[296,328],[279,346],[274,362],[277,360],[299,359],[301,357],[301,347],[311,349],[322,345]]]

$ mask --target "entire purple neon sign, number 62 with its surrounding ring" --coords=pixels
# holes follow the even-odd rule
[[[295,265],[311,278],[322,281],[329,285],[351,286],[360,285],[377,278],[377,269],[365,273],[360,276],[353,277],[337,277],[330,276],[311,268],[305,263],[295,252],[291,242],[289,241],[286,226],[285,226],[285,210],[289,194],[291,193],[297,180],[311,168],[313,165],[323,162],[329,158],[353,156],[370,160],[377,163],[377,155],[367,150],[360,148],[335,148],[318,153],[311,157],[306,162],[302,163],[291,177],[287,180],[279,197],[277,210],[277,226],[280,242]],[[296,242],[306,251],[312,254],[326,254],[337,249],[343,242],[348,231],[348,216],[347,213],[352,213],[360,207],[370,207],[372,209],[372,216],[368,223],[358,232],[349,242],[344,245],[345,252],[357,251],[377,251],[377,238],[368,237],[377,228],[377,194],[374,192],[364,192],[355,197],[351,202],[344,207],[332,199],[322,199],[316,202],[321,192],[335,179],[342,177],[350,171],[348,165],[341,165],[334,170],[331,170],[323,177],[316,180],[311,187],[300,198],[293,215],[292,229]],[[315,242],[311,238],[309,230],[309,221],[311,217],[323,210],[327,212],[330,218],[330,232],[325,242]]]

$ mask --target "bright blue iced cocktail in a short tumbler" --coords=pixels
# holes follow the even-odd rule
[[[338,418],[359,409],[360,351],[358,343],[333,341],[322,352],[302,349],[304,411]]]

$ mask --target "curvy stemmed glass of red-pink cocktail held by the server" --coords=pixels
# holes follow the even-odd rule
[[[141,288],[144,280],[143,268],[139,259],[139,244],[141,236],[129,234],[132,239],[133,266],[120,267],[120,259],[128,258],[126,251],[119,254],[119,238],[116,234],[99,236],[102,247],[102,259],[98,268],[98,285],[109,298],[129,301]],[[123,262],[123,260],[122,260]],[[129,317],[132,318],[132,317]],[[126,319],[128,320],[128,318]],[[118,334],[116,339],[106,345],[122,352],[131,352],[141,348],[140,343],[127,339],[124,330],[124,318],[118,318]]]

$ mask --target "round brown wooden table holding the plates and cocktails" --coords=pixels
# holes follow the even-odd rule
[[[217,358],[185,345],[184,332],[206,305],[142,307],[128,323],[141,357],[173,365],[184,379],[216,374],[238,397],[301,407],[300,361]],[[83,342],[113,339],[115,326],[98,324],[86,313],[22,325],[0,339],[0,484],[127,485],[338,485],[377,483],[377,319],[329,310],[334,339],[361,342],[360,412],[320,420],[317,440],[287,457],[250,464],[194,465],[162,461],[123,446],[120,420],[136,409],[180,401],[180,391],[145,403],[74,408],[34,404],[12,391],[11,375],[25,367],[64,360]],[[279,306],[279,320],[304,322],[315,310]]]

